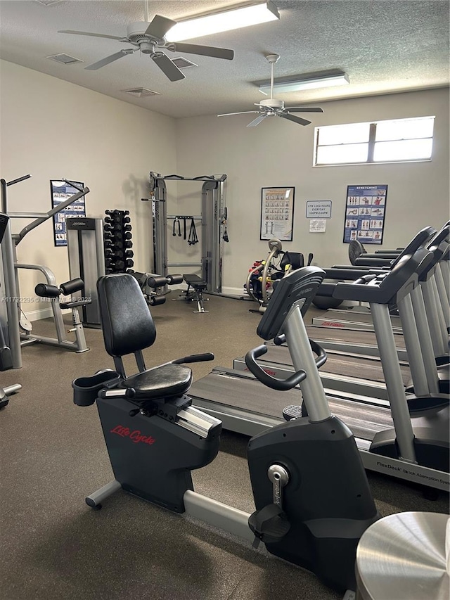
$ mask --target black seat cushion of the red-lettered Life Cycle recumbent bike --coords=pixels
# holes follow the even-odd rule
[[[192,371],[181,364],[162,364],[127,377],[118,388],[127,388],[133,400],[181,396],[192,385]],[[132,391],[131,391],[132,390]]]

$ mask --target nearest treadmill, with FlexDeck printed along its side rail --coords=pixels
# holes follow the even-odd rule
[[[328,393],[327,397],[333,414],[352,429],[366,468],[448,492],[449,404],[409,414],[388,307],[401,300],[410,302],[417,272],[431,260],[432,253],[423,244],[413,253],[405,253],[390,272],[364,283],[335,284],[335,298],[351,295],[352,300],[368,302],[371,307],[390,407],[365,405]],[[248,360],[247,364],[251,369]],[[216,416],[226,429],[255,435],[281,423],[287,405],[302,402],[299,389],[268,393],[255,378],[241,374],[216,371],[193,383],[190,395],[194,406]]]

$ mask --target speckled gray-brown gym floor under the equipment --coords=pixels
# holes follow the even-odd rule
[[[210,296],[210,312],[194,314],[195,305],[175,297],[152,309],[158,337],[145,352],[147,366],[214,352],[214,362],[192,365],[198,380],[259,345],[250,302]],[[34,323],[36,333],[52,335],[51,328],[49,320]],[[0,413],[1,599],[340,598],[305,570],[124,492],[101,511],[86,506],[86,495],[113,478],[96,407],[72,403],[73,379],[113,367],[101,331],[86,329],[86,340],[91,350],[83,354],[25,347],[23,368],[0,374],[1,385],[23,385]],[[252,511],[247,442],[224,432],[217,459],[193,473],[195,489]],[[375,473],[369,480],[383,516],[448,512],[447,494],[432,501],[413,485]]]

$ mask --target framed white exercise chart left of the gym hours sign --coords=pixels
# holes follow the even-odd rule
[[[260,240],[293,240],[295,188],[262,188]]]

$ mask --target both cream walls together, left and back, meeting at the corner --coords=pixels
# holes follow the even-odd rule
[[[8,189],[9,210],[48,211],[50,179],[84,181],[91,189],[88,216],[100,217],[107,208],[130,210],[136,270],[152,267],[150,205],[141,203],[148,196],[150,170],[185,177],[228,175],[230,243],[225,244],[223,279],[230,293],[242,291],[252,262],[267,255],[266,241],[259,240],[262,187],[295,186],[294,238],[284,248],[312,252],[314,264],[323,266],[348,262],[342,243],[347,185],[389,186],[384,248],[403,245],[421,227],[438,227],[449,218],[448,89],[320,103],[325,112],[311,115],[308,127],[273,118],[247,128],[252,115],[174,120],[12,63],[0,61],[0,69],[0,177],[10,181],[32,174]],[[311,166],[314,125],[425,115],[436,115],[430,162]],[[193,182],[168,182],[168,214],[198,214],[200,189]],[[309,234],[306,200],[333,201],[325,234]],[[13,231],[24,224],[14,221]],[[169,262],[198,260],[200,244],[190,247],[173,238],[171,226]],[[20,243],[18,259],[46,264],[58,281],[68,279],[67,252],[53,246],[50,221]],[[23,274],[21,295],[34,297],[39,279]]]

